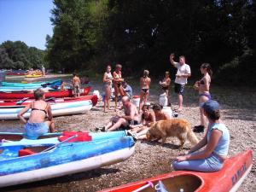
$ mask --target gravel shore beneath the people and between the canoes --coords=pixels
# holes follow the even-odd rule
[[[131,84],[138,93],[136,82]],[[102,84],[93,84],[93,90],[102,92]],[[157,102],[160,89],[154,82],[151,86],[149,102]],[[230,89],[222,87],[212,87],[212,95],[222,105],[222,119],[230,130],[230,155],[238,154],[248,148],[255,150],[256,146],[256,116],[255,116],[255,97],[256,91],[250,89]],[[197,93],[191,87],[187,87],[184,96],[183,111],[178,118],[188,119],[192,126],[199,123],[199,108],[197,107]],[[177,98],[172,93],[172,108],[175,107]],[[102,112],[102,102],[90,112],[80,115],[65,116],[55,118],[58,131],[75,130],[90,131],[96,126],[105,125],[108,119],[115,112]],[[112,103],[113,105],[113,103]],[[16,130],[19,131],[20,128]],[[203,133],[196,133],[201,138]],[[177,149],[178,141],[176,138],[168,138],[164,146],[160,143],[148,143],[138,141],[136,151],[130,159],[105,166],[90,172],[81,172],[65,177],[52,178],[36,183],[27,183],[19,186],[9,187],[3,191],[86,191],[93,192],[130,183],[143,178],[156,176],[158,174],[172,172],[171,162],[177,156],[187,151],[187,149]],[[185,148],[190,148],[186,143]],[[253,154],[255,158],[255,154]],[[256,172],[255,163],[253,170],[249,173],[245,182],[242,183],[242,191],[256,191]]]

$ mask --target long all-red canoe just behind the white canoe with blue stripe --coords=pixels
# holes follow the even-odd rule
[[[85,87],[81,89],[80,96],[87,96],[90,92],[91,87]],[[73,96],[73,90],[49,90],[45,92],[45,98],[49,97],[70,97]],[[14,91],[14,92],[0,92],[0,99],[22,99],[22,98],[34,98],[34,94],[30,91]]]

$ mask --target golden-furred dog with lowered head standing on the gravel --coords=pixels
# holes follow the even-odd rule
[[[162,144],[166,143],[166,137],[177,137],[180,140],[180,148],[183,148],[186,140],[195,145],[198,139],[191,130],[191,125],[185,119],[168,119],[160,120],[150,126],[146,133],[147,140],[160,140]]]

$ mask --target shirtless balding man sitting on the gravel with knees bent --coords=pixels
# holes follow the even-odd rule
[[[137,125],[139,121],[139,115],[136,105],[130,102],[128,96],[122,97],[123,106],[120,109],[124,109],[125,115],[116,115],[111,118],[108,125],[103,127],[103,131],[116,131],[121,126],[129,129],[130,125]]]

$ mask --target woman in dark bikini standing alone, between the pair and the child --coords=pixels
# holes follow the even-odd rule
[[[142,110],[143,102],[144,102],[144,105],[146,105],[148,100],[149,86],[151,83],[151,79],[148,78],[148,74],[149,74],[148,70],[144,70],[143,77],[140,79],[141,95],[140,95],[139,113]]]

